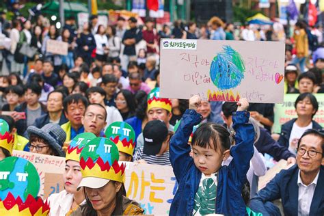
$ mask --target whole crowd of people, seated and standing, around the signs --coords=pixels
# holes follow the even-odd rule
[[[324,214],[323,122],[313,118],[324,93],[319,29],[298,21],[286,36],[284,27],[218,17],[161,31],[150,18],[139,27],[122,16],[105,26],[92,15],[79,29],[73,17],[62,29],[46,23],[1,13],[10,46],[0,46],[0,160],[13,150],[66,157],[65,189],[47,200],[50,215],[144,214],[126,197],[118,161],[173,167],[170,215]],[[284,93],[299,94],[297,118],[271,134],[273,104],[161,98],[161,38],[286,42]],[[68,54],[47,51],[48,40],[68,43]],[[265,154],[292,167],[259,191]]]

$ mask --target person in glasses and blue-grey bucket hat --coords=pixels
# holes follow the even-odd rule
[[[58,124],[45,124],[41,129],[29,126],[27,135],[29,137],[27,146],[31,152],[65,157],[62,147],[66,133]]]

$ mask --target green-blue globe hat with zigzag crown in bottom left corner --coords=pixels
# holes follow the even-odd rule
[[[37,197],[39,190],[32,163],[19,157],[0,161],[0,215],[48,215],[49,204]]]

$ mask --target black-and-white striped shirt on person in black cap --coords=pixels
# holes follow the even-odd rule
[[[156,164],[156,165],[171,165],[169,159],[169,151],[167,150],[162,155],[148,155],[143,153],[143,147],[139,148],[133,157],[133,161],[139,161],[143,159],[148,164]]]

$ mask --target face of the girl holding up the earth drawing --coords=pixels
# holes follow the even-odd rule
[[[221,162],[224,159],[224,154],[221,152],[216,152],[213,148],[202,148],[197,145],[192,146],[192,150],[195,167],[205,176],[210,176],[221,167]]]

